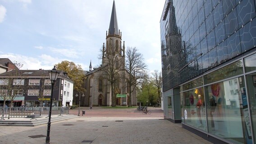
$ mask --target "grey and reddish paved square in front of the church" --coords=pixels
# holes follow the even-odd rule
[[[81,117],[52,123],[50,144],[211,144],[181,124],[164,120],[160,108],[150,108],[151,115],[135,108],[86,109],[80,109]],[[86,111],[83,116],[82,110]],[[123,115],[118,117],[119,113]],[[0,126],[0,144],[45,144],[46,130],[47,125]]]

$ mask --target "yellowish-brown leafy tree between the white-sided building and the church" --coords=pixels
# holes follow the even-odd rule
[[[74,82],[73,89],[75,91],[86,91],[85,88],[82,87],[85,75],[81,65],[76,65],[74,62],[64,60],[61,63],[56,64],[56,69],[68,73],[69,78]]]

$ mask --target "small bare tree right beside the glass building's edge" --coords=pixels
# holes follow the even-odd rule
[[[158,72],[158,70],[155,70],[152,72],[152,84],[157,88],[157,94],[158,94],[158,100],[161,99],[161,81],[162,81],[162,72]]]

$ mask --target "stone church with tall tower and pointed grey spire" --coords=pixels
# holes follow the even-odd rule
[[[122,32],[118,28],[114,2],[110,27],[106,31],[106,43],[103,43],[101,53],[101,66],[92,68],[90,62],[89,71],[85,72],[84,86],[86,92],[85,97],[81,99],[81,105],[126,106],[130,103],[129,98],[131,96],[131,105],[137,106],[136,89],[131,95],[128,95],[125,46],[124,41],[122,44]]]

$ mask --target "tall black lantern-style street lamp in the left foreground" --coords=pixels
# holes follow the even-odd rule
[[[46,144],[50,144],[50,117],[51,117],[51,107],[52,107],[52,95],[53,95],[53,85],[59,76],[59,72],[56,70],[55,66],[51,71],[49,71],[50,82],[51,82],[51,94],[50,94],[50,111],[49,111],[49,120],[47,123],[47,135],[46,135]]]

